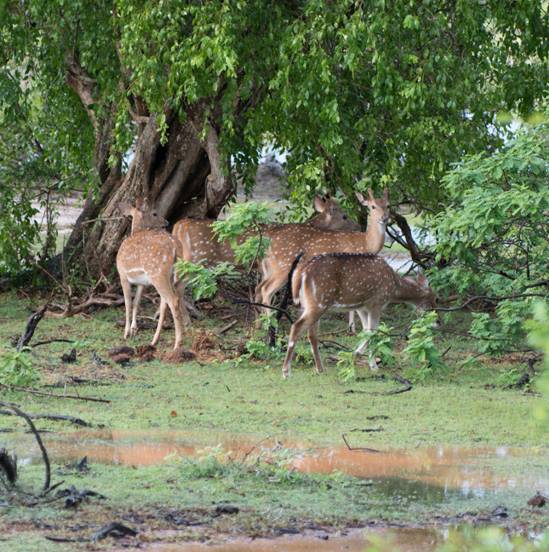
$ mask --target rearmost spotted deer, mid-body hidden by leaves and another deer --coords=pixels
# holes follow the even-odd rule
[[[316,196],[314,208],[317,214],[306,223],[262,225],[261,231],[264,236],[270,237],[273,232],[279,232],[287,227],[297,229],[360,230],[360,226],[349,219],[337,201],[331,198]],[[186,261],[193,263],[203,262],[205,266],[214,266],[223,261],[234,262],[231,244],[228,240],[217,240],[213,232],[212,222],[211,220],[191,218],[185,218],[176,222],[172,233],[181,243],[183,258]],[[245,232],[239,241],[245,241],[254,235],[255,232],[255,230]]]

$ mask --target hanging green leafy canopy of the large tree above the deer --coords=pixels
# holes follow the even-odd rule
[[[495,113],[544,94],[545,16],[544,0],[4,0],[0,172],[14,197],[97,191],[139,136],[132,114],[167,141],[170,111],[201,137],[213,122],[247,187],[268,139],[297,204],[389,184],[438,211],[450,163],[501,145]],[[0,217],[28,233],[28,206]]]

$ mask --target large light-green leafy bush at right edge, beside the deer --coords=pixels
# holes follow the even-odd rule
[[[534,297],[549,286],[549,126],[526,126],[497,151],[466,157],[443,179],[450,197],[427,226],[440,269],[431,283],[493,312],[473,316],[487,353],[516,349]]]

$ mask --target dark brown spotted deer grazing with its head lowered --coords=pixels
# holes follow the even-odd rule
[[[360,253],[329,253],[304,261],[292,275],[294,303],[302,313],[290,329],[288,351],[282,376],[290,375],[296,341],[308,329],[315,369],[323,371],[318,350],[318,325],[321,316],[330,308],[356,310],[364,329],[373,332],[381,313],[389,303],[411,303],[419,309],[434,309],[435,295],[425,276],[417,280],[398,275],[381,257]],[[364,351],[368,340],[356,349]],[[374,359],[370,368],[377,369]]]

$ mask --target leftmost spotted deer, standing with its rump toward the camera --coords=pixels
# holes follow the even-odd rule
[[[136,201],[135,207],[121,203],[119,210],[123,215],[132,217],[131,235],[122,242],[116,255],[116,268],[126,306],[124,339],[137,333],[137,309],[143,287],[153,285],[160,295],[160,316],[151,344],[158,343],[166,316],[166,307],[169,307],[175,326],[174,348],[177,349],[182,345],[183,325],[190,321],[174,286],[173,265],[182,255],[181,246],[163,229],[168,225],[168,221],[150,210],[140,200]],[[132,284],[137,285],[133,309]]]

